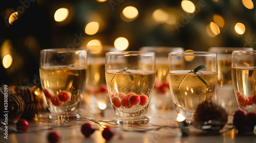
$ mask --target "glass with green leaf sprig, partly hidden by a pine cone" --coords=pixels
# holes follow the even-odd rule
[[[182,69],[177,66],[182,63]],[[172,52],[168,58],[169,87],[177,114],[194,121],[198,104],[213,100],[217,86],[217,56],[210,52]]]

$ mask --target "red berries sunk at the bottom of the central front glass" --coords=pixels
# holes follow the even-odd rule
[[[116,108],[122,106],[132,108],[135,105],[146,105],[148,103],[148,97],[145,94],[138,96],[134,92],[128,93],[127,95],[124,93],[116,93],[115,95],[112,95],[111,101]]]

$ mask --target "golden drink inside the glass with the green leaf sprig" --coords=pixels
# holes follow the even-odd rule
[[[188,74],[189,71],[170,71],[168,74],[169,86],[175,105],[187,112],[194,113],[198,104],[214,97],[217,73],[200,70],[203,74]],[[200,76],[207,85],[197,76]]]

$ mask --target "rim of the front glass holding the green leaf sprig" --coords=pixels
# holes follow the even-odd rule
[[[194,51],[194,52],[170,52],[169,56],[216,56],[214,52]]]

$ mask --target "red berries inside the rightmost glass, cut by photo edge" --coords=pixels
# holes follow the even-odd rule
[[[239,91],[237,91],[237,95],[238,95],[238,104],[240,107],[247,107],[253,104],[256,104],[256,94],[252,95],[252,96],[245,96],[244,93],[241,93]]]

